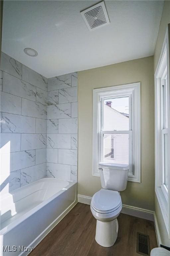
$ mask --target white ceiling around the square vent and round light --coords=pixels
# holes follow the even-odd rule
[[[110,24],[90,32],[80,11],[98,2],[4,1],[2,51],[47,78],[153,55],[163,1],[105,1]]]

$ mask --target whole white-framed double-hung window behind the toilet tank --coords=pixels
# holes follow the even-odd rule
[[[129,165],[140,182],[140,83],[93,90],[93,175],[99,163]]]

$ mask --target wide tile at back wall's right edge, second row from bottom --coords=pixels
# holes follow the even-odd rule
[[[77,150],[58,149],[58,163],[77,165]]]

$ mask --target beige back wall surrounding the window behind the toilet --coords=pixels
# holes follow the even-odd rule
[[[93,196],[101,189],[92,176],[93,89],[141,82],[141,183],[128,182],[124,204],[154,210],[153,56],[78,73],[78,193]]]

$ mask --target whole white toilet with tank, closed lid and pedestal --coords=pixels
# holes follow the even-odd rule
[[[113,246],[118,236],[118,220],[122,210],[120,191],[127,187],[129,166],[100,163],[102,189],[91,200],[90,209],[97,220],[96,242],[104,247]]]

